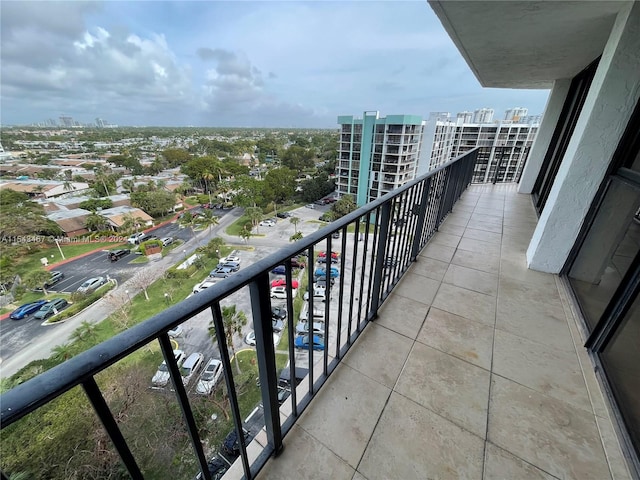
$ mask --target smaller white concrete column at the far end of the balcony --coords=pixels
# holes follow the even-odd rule
[[[570,86],[570,78],[556,80],[553,83],[553,88],[551,89],[551,93],[549,93],[549,98],[547,99],[547,105],[544,108],[544,116],[542,117],[540,128],[538,129],[538,135],[533,142],[531,152],[529,152],[529,158],[527,159],[527,164],[524,166],[524,170],[522,171],[522,177],[518,184],[518,193],[533,192],[533,186],[536,183],[536,179],[540,173],[540,167],[542,166],[544,157],[549,149],[551,137],[556,129]]]

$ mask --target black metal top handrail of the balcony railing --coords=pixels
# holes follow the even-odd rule
[[[161,333],[171,330],[194,315],[210,308],[211,305],[219,300],[247,286],[265,271],[271,271],[275,266],[283,264],[291,257],[308,251],[310,247],[326,239],[333,232],[346,227],[355,220],[376,210],[392,198],[402,195],[414,185],[436,175],[439,171],[462,160],[476,150],[478,149],[474,148],[473,150],[465,152],[440,167],[411,180],[402,187],[332,222],[330,226],[326,226],[298,242],[283,247],[278,252],[242,269],[233,276],[225,279],[224,282],[218,282],[216,285],[207,288],[198,295],[194,295],[163,310],[148,320],[105,340],[91,349],[3,393],[0,396],[1,427],[4,428],[12,424],[62,393],[80,385],[82,382],[95,376],[97,373],[132,352],[155,340]]]

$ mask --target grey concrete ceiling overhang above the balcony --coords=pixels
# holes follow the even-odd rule
[[[543,89],[602,54],[625,3],[429,0],[482,86]]]

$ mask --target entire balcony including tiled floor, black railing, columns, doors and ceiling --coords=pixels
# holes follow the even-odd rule
[[[81,387],[104,425],[86,443],[133,478],[202,469],[208,479],[208,462],[225,479],[639,478],[640,4],[430,4],[482,85],[551,88],[518,182],[498,179],[515,165],[469,150],[5,392],[3,434]],[[495,184],[471,184],[478,168]],[[337,273],[334,284],[331,270],[320,275],[329,308],[305,343],[291,259],[306,255],[310,266],[319,251],[325,267],[336,252]],[[279,382],[269,272],[281,264],[291,363]],[[256,379],[239,380],[221,312],[241,289],[259,371],[250,409],[241,400]],[[186,391],[167,333],[201,312],[215,322],[237,432],[220,448],[207,443],[216,420]],[[145,420],[168,423],[164,433],[192,448],[149,472],[139,419],[105,400],[113,392],[101,391],[100,375],[155,342],[174,416]]]

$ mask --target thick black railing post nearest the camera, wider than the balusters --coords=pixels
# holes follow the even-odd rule
[[[288,267],[290,267],[290,262]],[[291,283],[286,285],[287,296],[291,293]],[[267,429],[267,441],[273,447],[274,455],[282,452],[282,430],[278,413],[278,379],[276,377],[276,355],[273,345],[273,325],[271,323],[271,291],[269,274],[262,273],[249,284],[251,291],[251,311],[253,312],[253,330],[256,334],[256,355],[258,357],[258,375],[264,423]],[[294,372],[295,373],[295,372]]]

